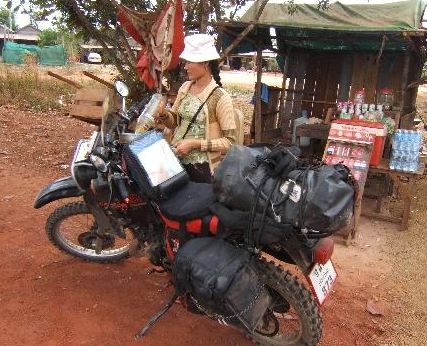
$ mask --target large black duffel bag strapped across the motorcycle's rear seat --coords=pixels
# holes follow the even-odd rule
[[[354,186],[343,165],[307,166],[294,148],[233,146],[214,175],[219,202],[327,235],[353,215]]]

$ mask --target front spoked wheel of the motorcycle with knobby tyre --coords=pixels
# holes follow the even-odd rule
[[[129,229],[125,238],[107,234],[102,237],[102,250],[96,253],[97,224],[84,202],[66,204],[50,214],[46,233],[53,245],[70,255],[98,263],[112,263],[129,257],[131,247],[138,246]]]

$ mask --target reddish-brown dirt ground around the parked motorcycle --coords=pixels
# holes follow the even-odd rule
[[[34,210],[34,197],[68,175],[75,143],[92,130],[55,113],[0,108],[0,345],[250,345],[240,332],[180,305],[135,342],[133,334],[171,292],[166,276],[148,275],[143,258],[98,265],[49,244],[44,222],[61,202]],[[427,343],[425,180],[417,190],[409,232],[362,219],[353,245],[337,238],[339,278],[322,308],[321,345]],[[383,316],[369,314],[368,301]]]

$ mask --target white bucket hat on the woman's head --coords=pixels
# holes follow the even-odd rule
[[[195,34],[184,38],[184,51],[180,58],[190,62],[203,62],[220,58],[211,35]]]

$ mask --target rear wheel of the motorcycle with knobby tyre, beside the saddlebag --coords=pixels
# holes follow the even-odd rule
[[[261,345],[317,345],[322,318],[310,291],[288,271],[272,263],[259,265],[273,304],[249,336]]]

